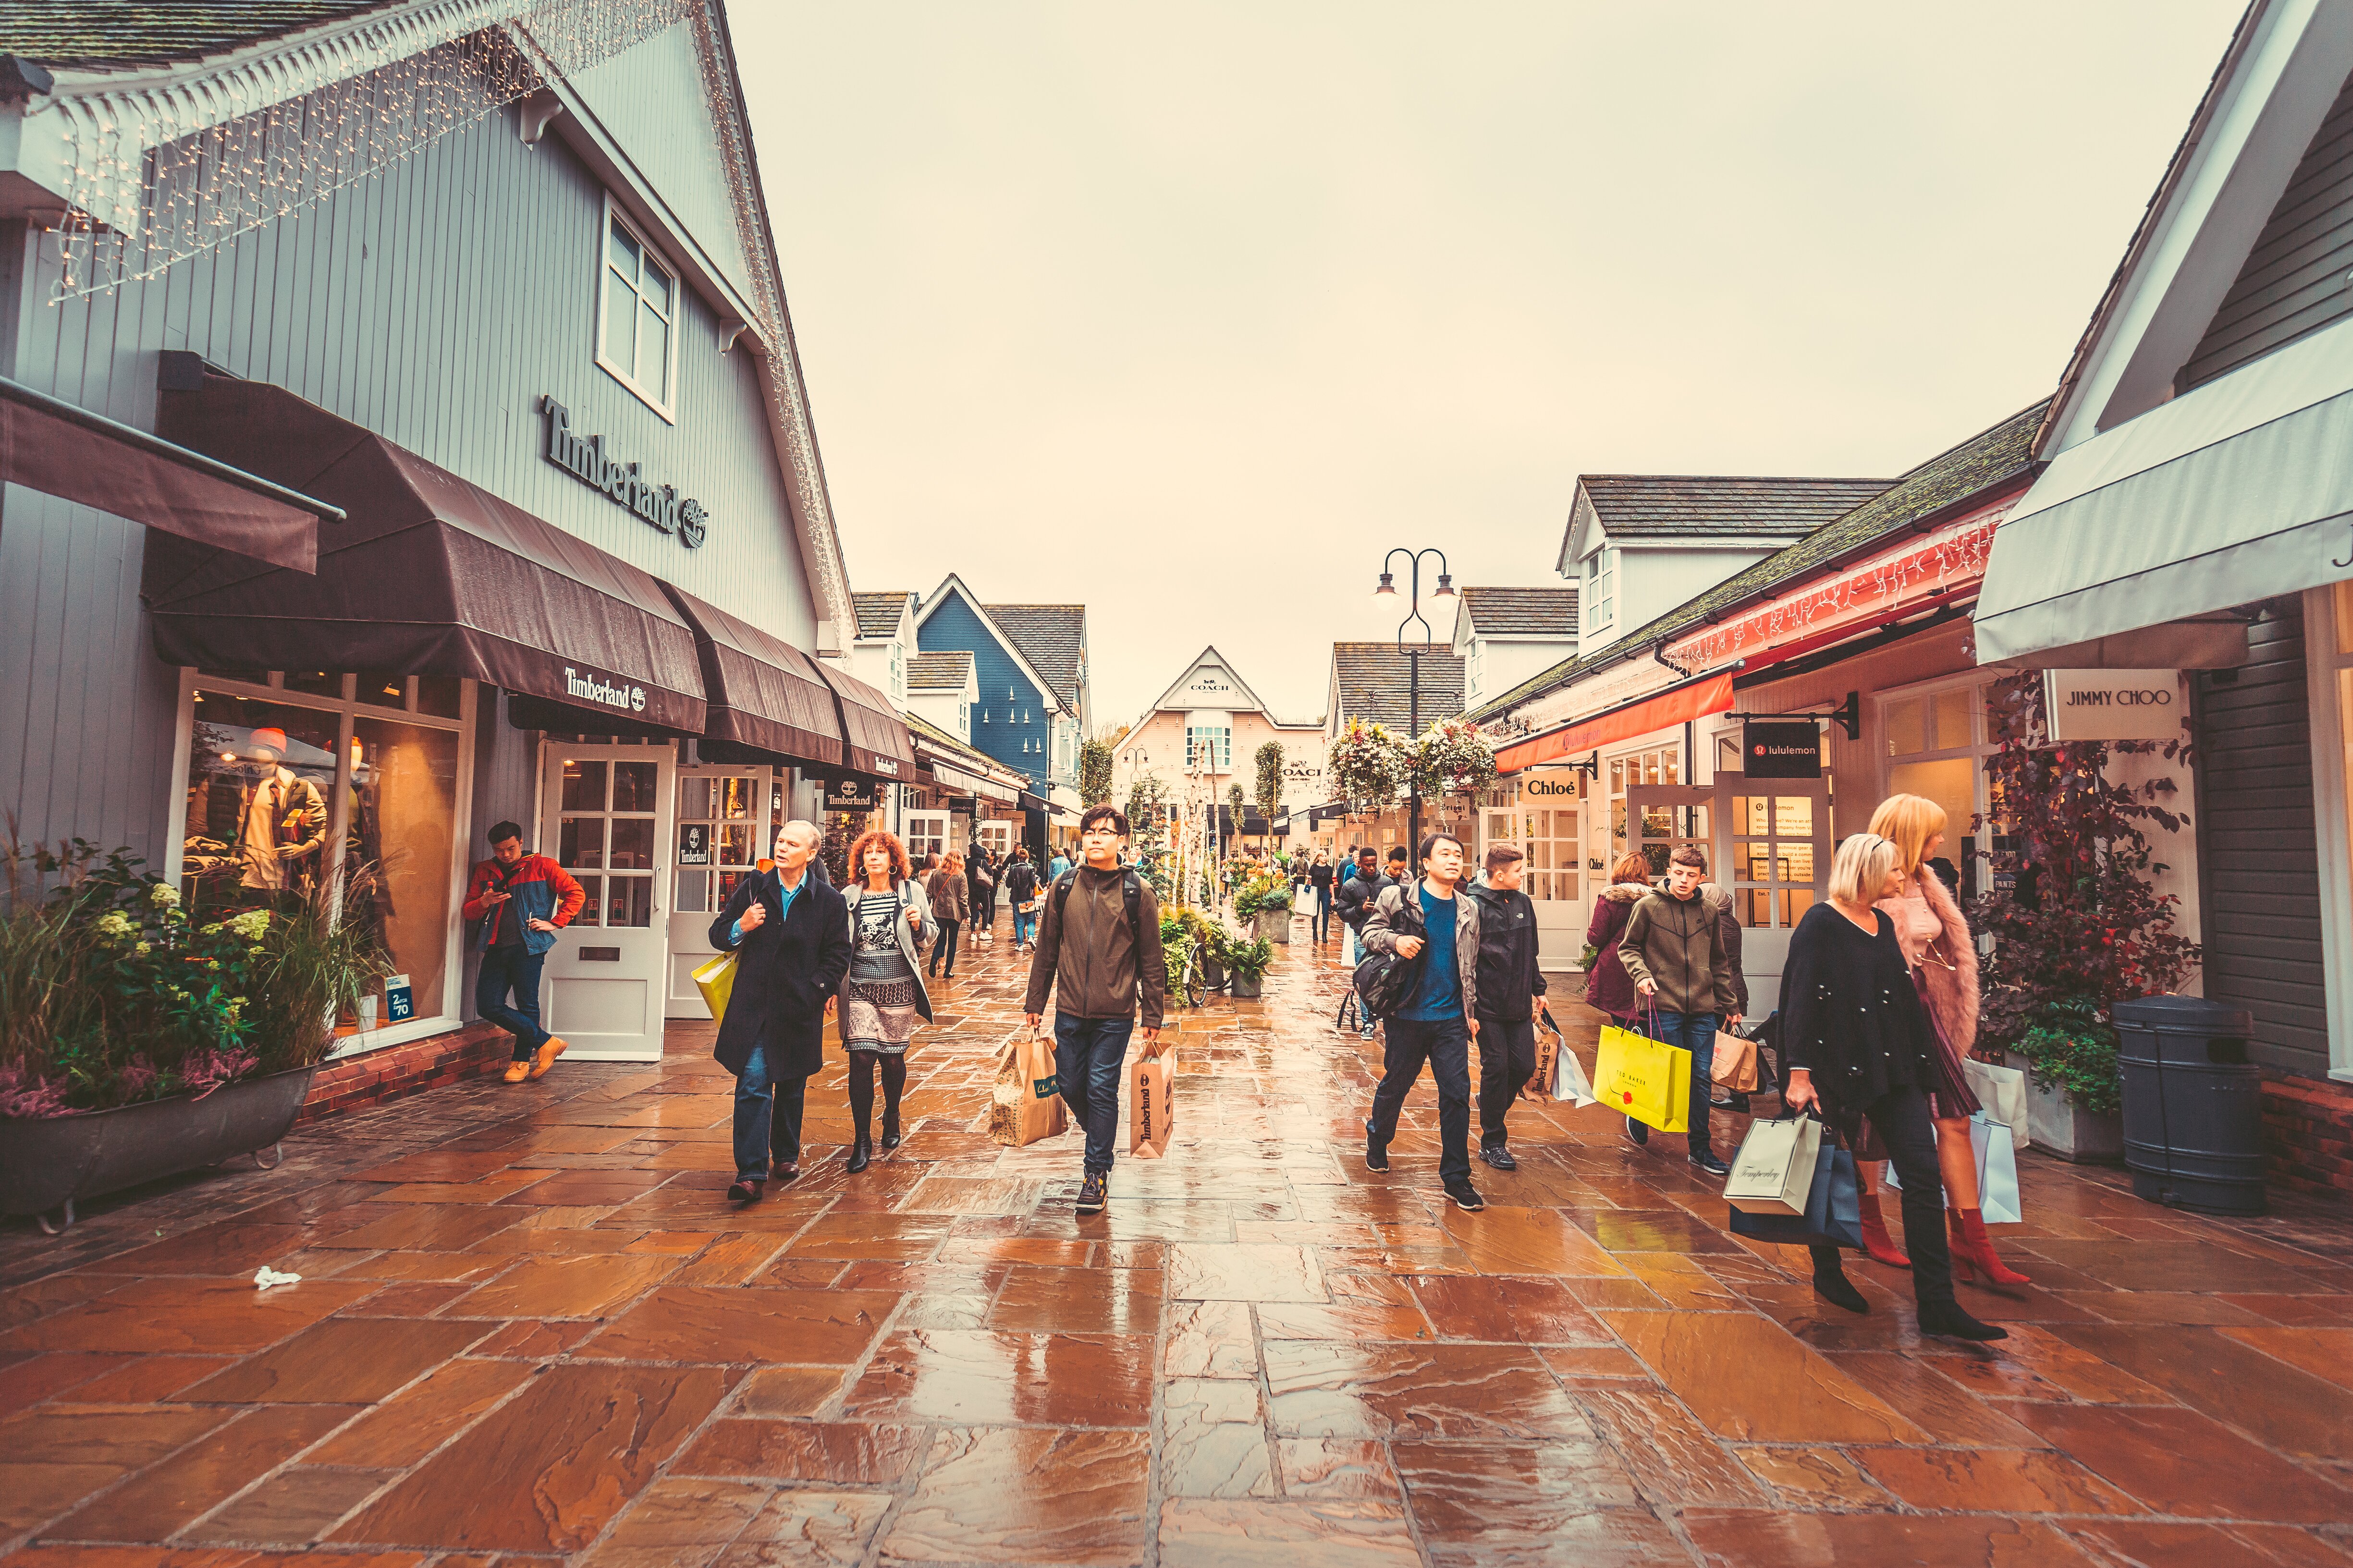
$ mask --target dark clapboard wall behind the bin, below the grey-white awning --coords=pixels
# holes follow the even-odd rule
[[[2313,823],[2304,614],[2278,599],[2238,679],[2198,675],[2198,860],[2205,994],[2254,1013],[2257,1058],[2325,1074],[2320,842]]]

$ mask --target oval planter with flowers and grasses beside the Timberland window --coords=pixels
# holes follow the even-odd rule
[[[191,919],[125,851],[7,844],[0,907],[0,1213],[285,1138],[339,1018],[391,971],[355,872],[296,907]]]

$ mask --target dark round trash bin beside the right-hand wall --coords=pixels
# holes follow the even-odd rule
[[[2113,1009],[2125,1067],[2125,1168],[2155,1204],[2264,1213],[2264,1070],[2254,1016],[2205,997]]]

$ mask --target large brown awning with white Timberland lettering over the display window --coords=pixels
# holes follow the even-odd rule
[[[167,663],[464,675],[565,703],[581,733],[701,733],[694,628],[638,567],[264,381],[167,390],[158,425],[351,515],[318,576],[151,538],[141,597]]]

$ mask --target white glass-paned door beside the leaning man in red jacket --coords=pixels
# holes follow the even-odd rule
[[[673,769],[666,745],[541,745],[539,842],[588,893],[541,985],[546,1027],[574,1060],[661,1060]]]

